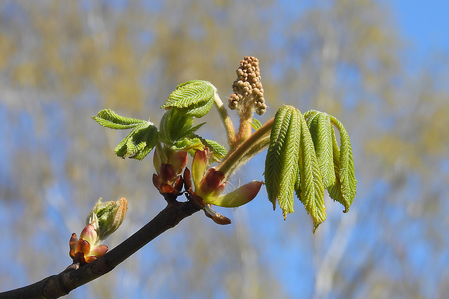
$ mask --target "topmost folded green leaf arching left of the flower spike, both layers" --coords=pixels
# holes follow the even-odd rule
[[[214,87],[211,82],[192,80],[180,84],[173,91],[161,108],[183,108],[180,113],[202,117],[212,107]]]

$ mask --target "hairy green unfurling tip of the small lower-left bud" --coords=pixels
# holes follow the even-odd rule
[[[127,209],[128,201],[124,197],[105,203],[101,202],[101,198],[98,199],[86,219],[86,225],[92,225],[97,233],[95,244],[101,243],[119,228],[125,219]]]

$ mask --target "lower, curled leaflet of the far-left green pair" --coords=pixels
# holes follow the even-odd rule
[[[158,139],[158,130],[149,122],[136,126],[125,139],[115,147],[115,154],[119,157],[127,157],[142,160],[151,152]]]

